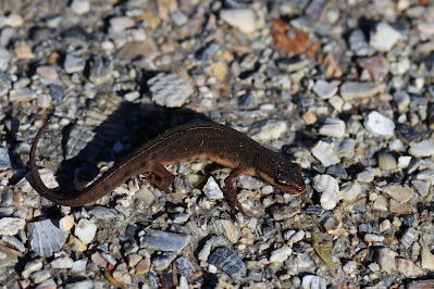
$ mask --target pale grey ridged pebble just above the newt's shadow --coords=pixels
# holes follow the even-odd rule
[[[174,73],[159,73],[147,84],[152,101],[166,108],[182,106],[194,92],[191,85]]]

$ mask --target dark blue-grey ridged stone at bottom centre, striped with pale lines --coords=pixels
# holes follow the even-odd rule
[[[215,248],[211,252],[208,262],[221,268],[233,278],[246,275],[246,265],[237,254],[225,247]]]

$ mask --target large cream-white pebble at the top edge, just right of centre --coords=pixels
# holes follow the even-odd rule
[[[259,23],[255,11],[251,9],[222,9],[220,17],[245,34],[253,33]]]

